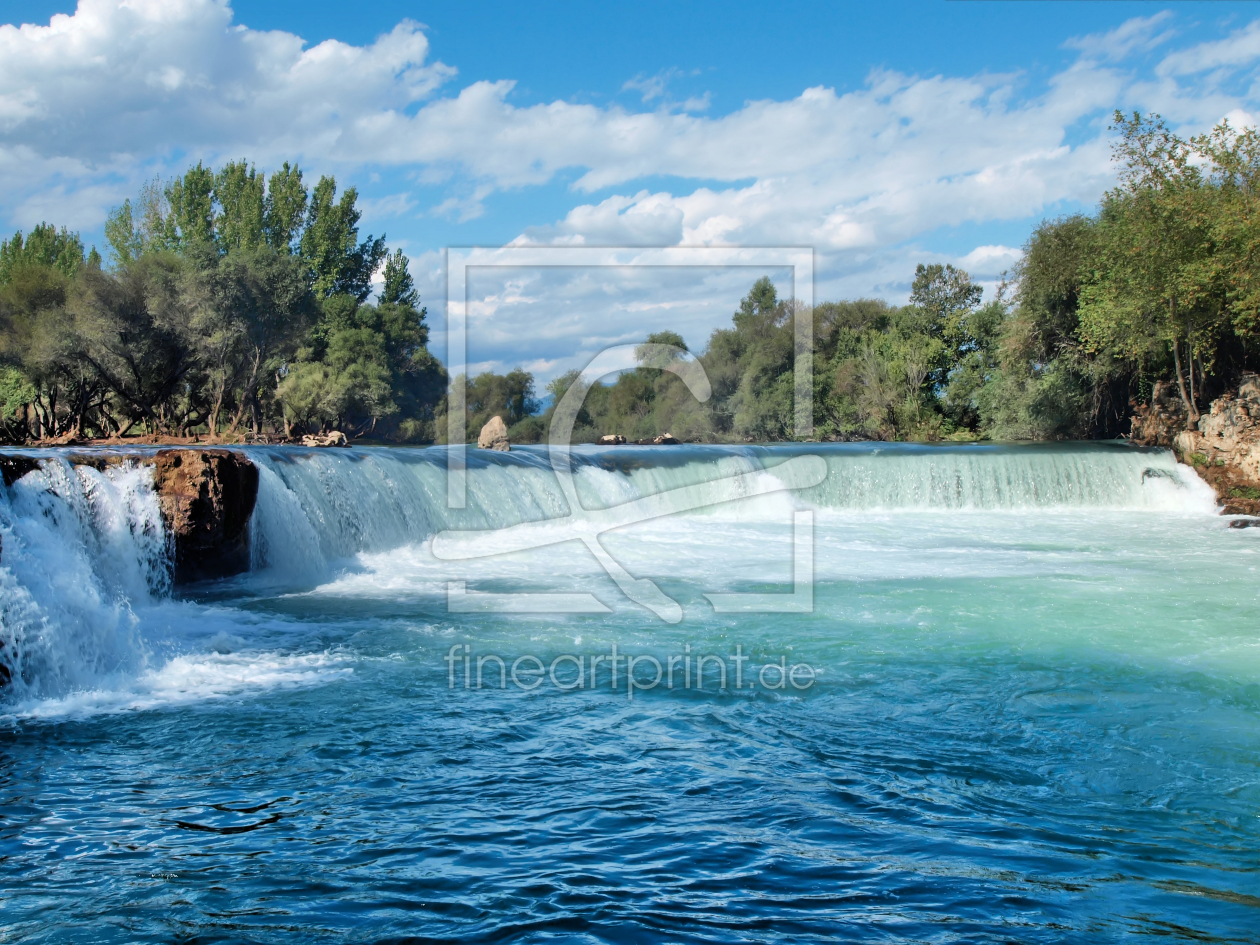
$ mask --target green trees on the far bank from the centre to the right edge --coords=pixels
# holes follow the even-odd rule
[[[708,403],[643,364],[591,389],[576,437],[791,438],[800,318],[811,320],[824,440],[1110,438],[1128,433],[1158,384],[1193,423],[1260,369],[1260,135],[1225,122],[1183,140],[1158,116],[1119,112],[1114,130],[1116,186],[1092,214],[1043,220],[988,301],[948,265],[919,266],[902,306],[864,299],[806,311],[760,280],[697,355]],[[673,333],[649,340],[685,349]],[[456,379],[474,436],[495,412],[514,440],[546,430],[548,415],[522,408],[536,403],[532,378],[508,378]],[[547,389],[558,401],[575,379]],[[509,388],[520,393],[507,410]]]

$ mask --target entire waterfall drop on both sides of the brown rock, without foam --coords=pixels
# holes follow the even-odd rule
[[[246,452],[260,467],[260,491],[253,573],[237,580],[258,586],[310,588],[355,556],[421,546],[449,529],[544,523],[571,512],[542,447],[469,451],[462,509],[447,508],[442,447]],[[781,464],[811,455],[824,457],[825,478],[786,481]],[[1215,509],[1211,489],[1172,454],[1123,445],[577,447],[568,464],[586,509],[658,496],[665,513],[790,520],[791,509],[804,508],[819,513],[820,534],[828,515]],[[731,501],[737,496],[751,498]],[[697,532],[682,541],[679,573],[687,541],[716,539]],[[179,604],[170,600],[170,576],[150,467],[98,471],[50,457],[0,488],[0,664],[13,677],[0,698],[45,698],[149,672],[146,626],[213,622],[170,610]],[[160,620],[141,619],[159,611]],[[231,635],[231,621],[223,625]]]

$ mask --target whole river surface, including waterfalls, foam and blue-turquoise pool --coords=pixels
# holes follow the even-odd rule
[[[253,571],[175,593],[142,467],[0,488],[0,940],[1260,937],[1260,529],[1171,454],[577,450],[587,508],[722,500],[604,536],[677,622],[543,544],[598,515],[542,452],[461,510],[441,450],[249,455]],[[800,512],[810,609],[714,612]]]

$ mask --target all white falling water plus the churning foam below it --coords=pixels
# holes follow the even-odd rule
[[[1056,529],[1087,532],[1116,517],[1225,524],[1211,490],[1169,452],[1114,445],[576,449],[567,462],[583,509],[570,508],[542,449],[472,452],[462,509],[447,507],[442,449],[246,452],[260,467],[251,573],[179,593],[147,466],[98,471],[47,454],[42,470],[0,489],[0,658],[13,674],[0,712],[151,708],[353,672],[336,653],[304,645],[305,611],[260,616],[248,606],[258,596],[325,606],[393,600],[441,614],[452,581],[593,588],[622,619],[650,619],[616,593],[581,543],[564,541],[583,509],[645,496],[667,513],[672,501],[689,510],[617,529],[604,547],[633,575],[714,590],[790,583],[793,513],[801,509],[816,515],[823,581],[1036,575],[1065,567]],[[825,460],[820,483],[776,474],[814,455]],[[690,509],[697,495],[714,504]],[[537,523],[544,538],[553,529],[556,543],[452,559],[462,533],[485,544],[471,533],[520,523]],[[1023,547],[1037,529],[1046,547]],[[708,619],[707,607],[688,602],[688,619]],[[539,620],[546,615],[522,622]]]

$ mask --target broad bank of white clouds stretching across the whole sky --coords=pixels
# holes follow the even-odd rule
[[[512,77],[456,86],[412,21],[364,45],[310,45],[234,23],[227,0],[81,0],[48,25],[0,26],[0,213],[91,228],[142,176],[200,158],[296,156],[352,180],[402,169],[445,192],[437,205],[403,192],[369,213],[457,222],[499,192],[568,174],[572,204],[522,242],[813,246],[820,296],[896,299],[915,262],[992,280],[1014,258],[983,237],[932,252],[934,233],[1096,200],[1113,179],[1111,108],[1160,111],[1189,131],[1255,115],[1260,21],[1135,62],[1172,45],[1174,21],[1158,13],[1068,40],[1075,62],[1036,93],[1018,74],[874,71],[853,89],[707,115],[670,103],[678,69],[626,83],[640,110],[520,105]],[[694,183],[643,186],[662,179]],[[572,339],[593,316],[571,311],[559,324]],[[643,311],[610,315],[601,338],[639,331]]]

